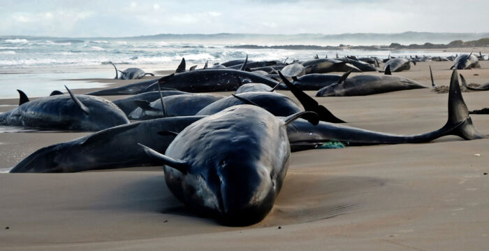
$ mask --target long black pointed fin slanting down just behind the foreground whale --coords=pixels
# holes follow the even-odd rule
[[[279,76],[282,78],[282,81],[285,83],[287,87],[291,90],[292,94],[299,100],[299,102],[304,106],[305,110],[314,111],[319,115],[319,120],[333,123],[344,123],[343,120],[335,117],[333,113],[331,113],[328,108],[324,106],[320,106],[319,103],[314,100],[312,97],[307,95],[305,92],[302,92],[299,87],[293,85],[289,80],[287,80],[284,75],[279,71]]]

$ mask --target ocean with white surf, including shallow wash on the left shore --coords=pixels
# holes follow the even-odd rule
[[[289,50],[289,49],[243,49],[230,48],[243,45],[235,42],[211,41],[164,41],[135,38],[7,38],[0,37],[0,98],[15,98],[15,89],[22,89],[28,96],[46,96],[54,89],[103,87],[89,81],[67,81],[62,79],[114,78],[114,70],[109,62],[119,65],[119,69],[137,65],[154,65],[161,70],[175,69],[182,57],[187,61],[187,69],[232,59],[289,60],[319,57],[340,57],[346,55],[392,56],[432,55],[448,56],[457,52],[423,50]],[[297,44],[297,43],[295,43]],[[263,45],[270,45],[263,43]],[[289,61],[291,62],[291,61]],[[87,69],[94,71],[87,71]],[[157,66],[157,67],[156,67]],[[70,72],[65,70],[68,67]],[[77,68],[84,71],[77,72]],[[22,71],[22,69],[28,69]],[[34,70],[33,70],[34,69]],[[38,70],[36,70],[38,69]],[[45,71],[49,69],[49,71]],[[53,70],[54,69],[54,70]]]

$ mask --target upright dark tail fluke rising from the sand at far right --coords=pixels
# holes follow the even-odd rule
[[[453,70],[448,92],[448,121],[442,129],[448,129],[445,135],[455,135],[465,140],[485,138],[477,131],[469,116],[469,109],[465,105],[458,83],[458,72]]]

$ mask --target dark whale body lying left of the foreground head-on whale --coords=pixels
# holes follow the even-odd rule
[[[123,124],[66,143],[36,150],[10,173],[73,173],[80,171],[155,166],[138,143],[164,152],[177,133],[203,118],[165,117]]]

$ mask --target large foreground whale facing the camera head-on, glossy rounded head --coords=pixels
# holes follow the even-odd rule
[[[199,215],[247,226],[270,212],[289,167],[286,125],[257,106],[240,105],[185,128],[161,154],[168,189]]]

